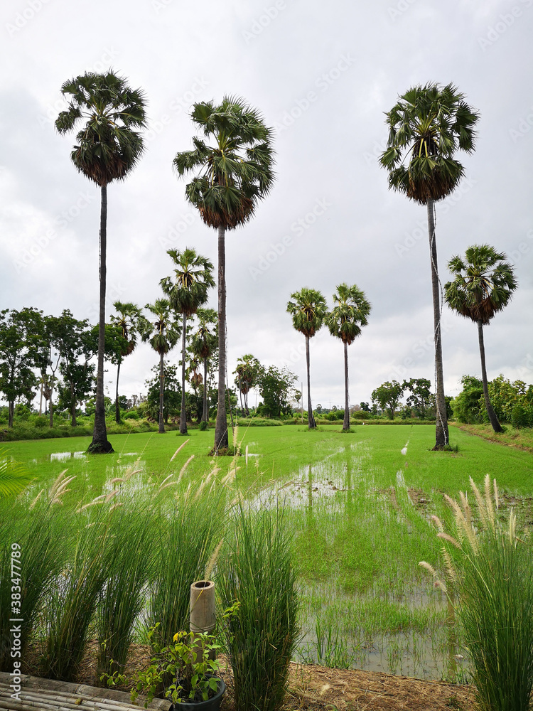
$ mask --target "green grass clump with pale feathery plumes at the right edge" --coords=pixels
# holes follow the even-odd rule
[[[480,711],[528,711],[533,688],[531,542],[517,537],[512,510],[507,523],[502,521],[496,481],[491,485],[487,475],[484,493],[472,479],[470,484],[475,513],[462,492],[461,503],[446,496],[454,515],[453,535],[434,519],[473,665],[475,699]],[[426,562],[420,565],[434,573]]]

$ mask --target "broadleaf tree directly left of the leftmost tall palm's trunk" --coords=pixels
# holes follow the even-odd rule
[[[97,353],[99,340],[87,319],[78,321],[65,309],[58,319],[55,344],[60,353],[59,407],[70,412],[70,424],[75,427],[76,407],[83,402],[94,387],[95,366],[90,363]]]

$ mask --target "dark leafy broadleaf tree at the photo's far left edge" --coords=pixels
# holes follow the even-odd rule
[[[33,399],[38,384],[33,368],[37,364],[43,312],[33,307],[0,311],[0,392],[8,402],[8,427],[13,427],[18,397]]]

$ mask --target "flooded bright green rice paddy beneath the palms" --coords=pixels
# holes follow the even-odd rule
[[[237,433],[236,482],[252,508],[284,502],[303,599],[296,658],[418,678],[461,680],[465,651],[447,623],[446,599],[418,563],[441,569],[432,514],[449,512],[443,494],[467,491],[470,476],[497,479],[522,528],[533,525],[533,457],[451,429],[457,452],[430,451],[431,426],[254,427]],[[210,470],[212,432],[188,439],[115,435],[115,454],[87,456],[90,438],[14,442],[11,456],[35,476],[26,496],[75,476],[65,506],[109,495],[129,472],[130,491],[159,486],[181,471],[183,484]],[[184,444],[185,443],[185,444]],[[176,449],[184,446],[178,453]],[[175,456],[173,456],[175,455]],[[194,456],[193,456],[194,455]],[[193,456],[193,459],[190,459]],[[220,457],[222,475],[231,464]],[[134,472],[134,474],[132,474]],[[171,496],[169,490],[168,496]]]

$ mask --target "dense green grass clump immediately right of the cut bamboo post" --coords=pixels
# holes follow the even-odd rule
[[[238,603],[227,622],[236,711],[276,711],[300,636],[296,571],[284,509],[235,511],[217,569],[222,604]]]

